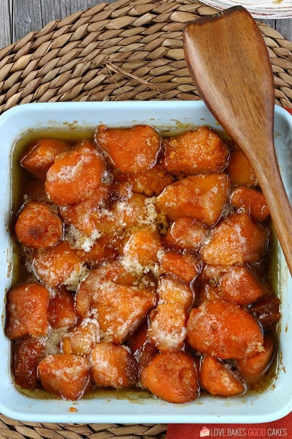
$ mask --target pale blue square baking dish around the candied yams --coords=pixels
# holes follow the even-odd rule
[[[148,102],[66,102],[25,104],[0,117],[0,303],[2,326],[5,293],[11,283],[12,244],[9,235],[11,210],[11,149],[29,128],[130,126],[148,123],[158,128],[187,129],[188,125],[209,124],[219,128],[204,103],[183,101]],[[72,124],[72,125],[68,125]],[[282,177],[292,198],[292,116],[275,108],[275,144]],[[273,176],[271,176],[273,178]],[[82,399],[77,403],[61,399],[33,399],[19,393],[9,371],[9,340],[0,331],[0,413],[22,421],[81,423],[148,422],[267,422],[292,411],[292,279],[282,252],[278,254],[276,282],[282,299],[278,371],[274,384],[263,393],[230,399],[201,397],[187,404],[171,404],[159,399]],[[13,268],[13,267],[12,267]],[[77,412],[70,413],[74,406]]]

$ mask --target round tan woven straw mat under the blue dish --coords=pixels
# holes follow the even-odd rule
[[[196,1],[121,0],[51,21],[0,50],[0,113],[26,102],[199,100],[182,29],[215,12]],[[258,26],[271,56],[276,103],[292,108],[292,42]],[[151,439],[165,430],[162,424],[24,424],[0,415],[0,439]]]

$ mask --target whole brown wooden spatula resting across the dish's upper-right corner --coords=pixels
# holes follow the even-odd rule
[[[267,47],[242,6],[189,22],[185,59],[205,104],[255,170],[292,274],[292,208],[274,149],[274,79]]]

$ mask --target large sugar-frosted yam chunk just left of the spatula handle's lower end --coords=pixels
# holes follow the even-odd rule
[[[266,227],[246,214],[231,215],[214,227],[210,241],[201,248],[201,258],[210,265],[254,263],[265,253],[268,235]]]

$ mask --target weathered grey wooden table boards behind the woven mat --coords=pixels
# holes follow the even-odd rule
[[[102,0],[0,0],[0,48],[41,29],[51,20],[95,6]],[[107,0],[113,3],[115,0]],[[292,40],[292,19],[262,20]]]

